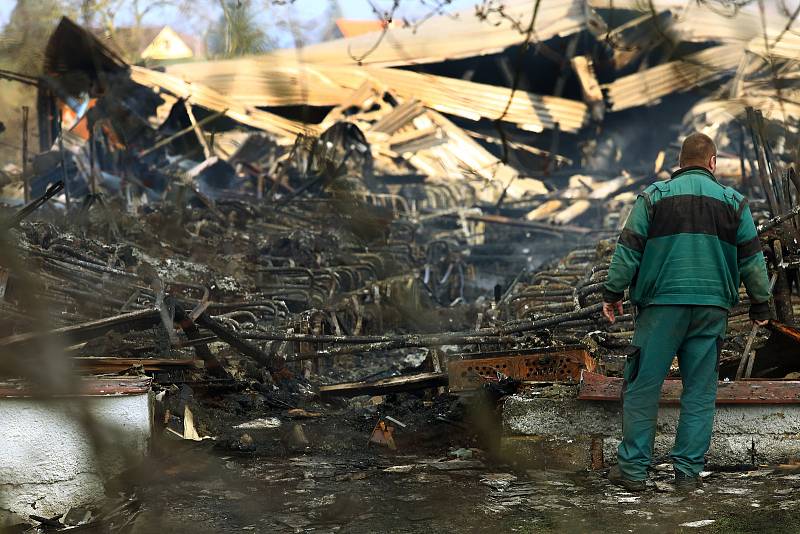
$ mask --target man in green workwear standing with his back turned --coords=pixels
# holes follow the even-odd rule
[[[603,314],[638,308],[625,365],[623,438],[609,480],[643,491],[653,454],[661,386],[675,355],[683,394],[671,457],[679,489],[700,484],[711,443],[717,375],[728,311],[744,281],[750,318],[770,317],[764,254],[747,201],[714,178],[717,149],[706,135],[683,142],[680,169],[639,195],[620,234],[603,294]]]

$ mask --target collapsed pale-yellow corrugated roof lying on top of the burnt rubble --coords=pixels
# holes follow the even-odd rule
[[[579,36],[589,44],[579,46]],[[204,121],[224,117],[283,146],[298,136],[319,137],[335,122],[347,121],[364,131],[382,171],[399,168],[464,182],[491,203],[548,191],[541,171],[569,162],[558,154],[559,146],[568,144],[559,143],[559,133],[594,142],[587,127],[599,124],[604,113],[651,105],[674,93],[712,87],[689,115],[696,127],[707,130],[719,131],[754,104],[767,119],[796,120],[800,110],[793,99],[776,97],[772,78],[780,78],[784,95],[795,90],[791,67],[800,48],[797,39],[785,20],[771,18],[767,24],[758,14],[720,14],[704,4],[518,0],[503,8],[490,4],[436,17],[418,27],[384,25],[380,33],[300,50],[175,64],[162,71],[127,64],[64,19],[47,47],[44,92],[67,103],[80,95],[95,98],[110,94],[115,75],[126,76],[163,101],[153,110],[137,111],[149,125],[162,128],[175,113],[187,115],[187,129],[195,131],[206,159],[230,158],[240,140],[233,133],[206,135]],[[528,45],[551,61],[546,74],[526,72],[532,67],[522,58],[529,56],[521,54]],[[513,47],[521,69],[505,86],[473,81],[470,72],[455,77],[461,63],[449,70],[436,66],[459,58],[503,59],[497,54]],[[533,86],[546,84],[520,81],[531,74],[557,79],[547,86],[551,90],[536,92]],[[572,74],[578,89],[565,95],[565,80]],[[313,118],[285,111],[307,106],[322,114]],[[53,146],[57,130],[43,129],[43,149]],[[549,140],[535,137],[543,132]],[[124,144],[126,136],[116,133]],[[165,133],[155,135],[154,142],[171,140]],[[215,146],[208,146],[209,137]],[[140,154],[153,148],[136,146]],[[538,166],[521,163],[530,158]]]

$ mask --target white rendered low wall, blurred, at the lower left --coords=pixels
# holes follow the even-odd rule
[[[0,511],[50,517],[99,500],[147,452],[151,412],[149,394],[0,398]],[[97,454],[93,437],[110,446]]]

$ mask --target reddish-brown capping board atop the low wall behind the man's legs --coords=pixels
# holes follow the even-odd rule
[[[619,401],[621,378],[584,371],[578,393],[580,400]],[[665,380],[662,404],[679,404],[683,386],[680,380]],[[798,380],[734,380],[717,384],[717,404],[798,404]]]

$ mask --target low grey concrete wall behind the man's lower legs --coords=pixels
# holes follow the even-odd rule
[[[678,424],[679,408],[659,410],[656,458],[667,458]],[[606,463],[616,461],[622,436],[622,407],[618,402],[543,399],[514,395],[503,406],[508,436],[546,436],[602,439]],[[717,406],[714,435],[707,460],[736,465],[783,463],[800,458],[800,404],[723,404]]]

